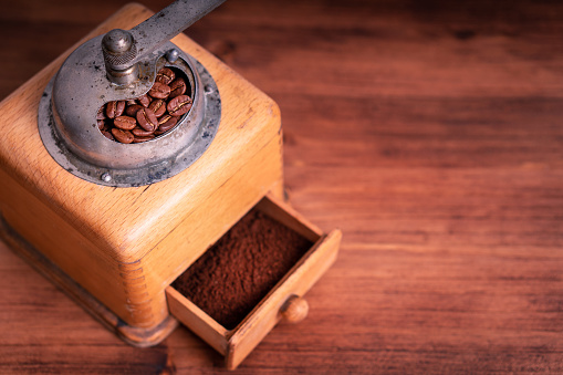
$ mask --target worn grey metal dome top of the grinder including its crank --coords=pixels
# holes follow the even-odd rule
[[[113,30],[79,46],[40,101],[40,136],[55,162],[82,179],[114,187],[154,184],[196,162],[220,123],[219,91],[209,72],[168,39],[221,2],[178,0],[129,31]],[[164,66],[187,76],[191,110],[171,131],[150,140],[107,139],[97,128],[98,108],[147,93]]]

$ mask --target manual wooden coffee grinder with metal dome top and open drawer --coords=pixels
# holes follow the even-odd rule
[[[150,18],[126,6],[0,103],[0,232],[127,343],[155,345],[180,321],[234,368],[281,319],[305,317],[302,296],[341,233],[283,202],[277,104],[180,34],[221,2],[180,0]],[[181,75],[189,111],[145,142],[104,136],[100,108],[138,104],[164,67]],[[170,284],[252,209],[313,246],[227,330]]]

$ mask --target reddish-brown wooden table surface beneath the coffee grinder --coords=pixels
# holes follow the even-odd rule
[[[2,1],[0,97],[124,3]],[[229,0],[187,34],[280,104],[290,202],[344,233],[234,373],[563,372],[562,3]],[[183,327],[124,344],[1,243],[0,332],[2,374],[225,372]]]

